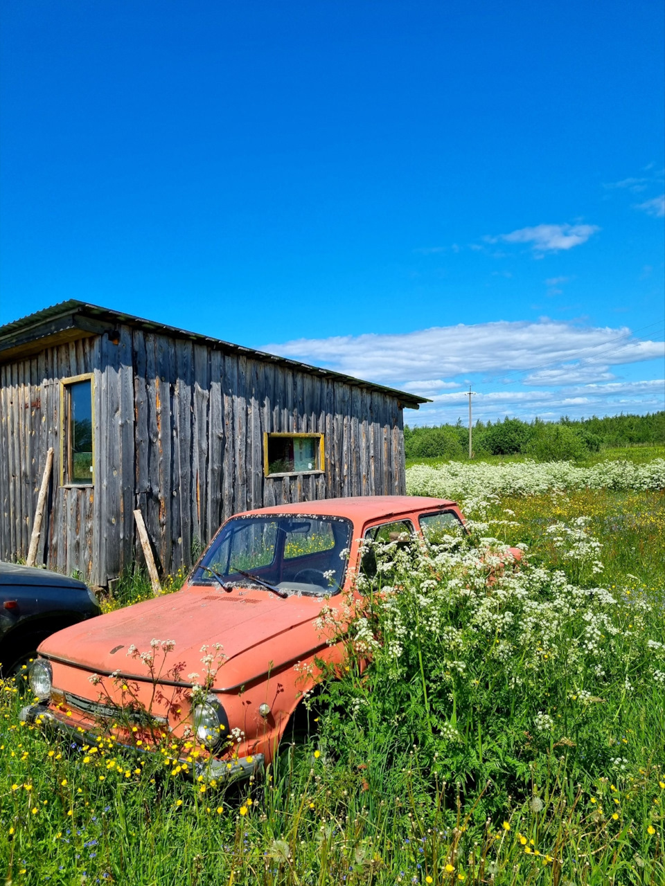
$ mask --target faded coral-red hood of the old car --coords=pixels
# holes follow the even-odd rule
[[[280,599],[268,591],[246,588],[229,594],[215,586],[185,587],[67,627],[43,641],[39,652],[90,672],[119,670],[152,680],[140,653],[151,652],[153,640],[174,641],[166,656],[156,654],[155,670],[160,670],[162,679],[198,682],[188,680],[189,675],[193,672],[205,680],[207,665],[201,659],[215,655],[214,645],[221,643],[226,660],[215,687],[232,688],[325,647],[325,637],[313,624],[323,605],[317,598]]]

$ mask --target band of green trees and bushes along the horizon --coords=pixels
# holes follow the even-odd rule
[[[537,461],[561,461],[584,458],[607,447],[658,445],[665,443],[665,411],[645,416],[591,416],[572,419],[562,416],[558,422],[536,418],[523,422],[505,417],[492,424],[473,425],[473,455],[529,455]],[[468,457],[468,428],[457,424],[435,427],[404,427],[406,457]]]

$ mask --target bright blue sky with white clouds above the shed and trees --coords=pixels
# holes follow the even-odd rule
[[[663,17],[2,0],[0,323],[83,299],[403,387],[663,408]]]

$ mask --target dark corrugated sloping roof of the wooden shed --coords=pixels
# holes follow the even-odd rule
[[[121,311],[113,311],[108,307],[90,305],[87,302],[78,301],[77,299],[61,301],[57,305],[45,307],[42,311],[36,311],[35,314],[28,314],[25,317],[20,317],[19,320],[14,320],[12,323],[5,323],[4,326],[0,326],[0,352],[2,352],[4,348],[13,346],[16,337],[21,333],[21,338],[26,340],[26,336],[29,335],[31,327],[35,328],[34,340],[36,341],[44,335],[44,333],[40,332],[38,329],[40,326],[43,327],[43,324],[45,323],[53,323],[57,328],[58,321],[62,320],[64,329],[66,328],[66,323],[71,321],[73,316],[87,317],[91,320],[98,320],[106,323],[124,323],[128,326],[145,330],[146,332],[161,333],[162,335],[168,335],[173,338],[190,338],[192,341],[200,342],[201,344],[228,351],[233,354],[244,354],[245,356],[253,357],[256,360],[270,361],[286,368],[306,372],[309,375],[331,378],[334,381],[343,382],[346,385],[353,385],[354,387],[363,387],[371,391],[391,394],[396,399],[401,400],[404,406],[412,409],[419,408],[420,403],[431,402],[431,400],[427,400],[425,397],[418,397],[412,393],[398,391],[397,389],[387,387],[386,385],[376,385],[374,382],[363,381],[361,378],[346,376],[340,372],[334,372],[332,369],[321,369],[317,366],[311,366],[309,363],[301,363],[300,361],[289,360],[287,357],[278,357],[275,354],[256,351],[251,347],[233,345],[231,342],[223,341],[221,338],[211,338],[210,336],[202,335],[199,332],[178,329],[176,326],[168,326],[166,323],[156,323],[153,320],[145,320],[143,317],[124,314]]]

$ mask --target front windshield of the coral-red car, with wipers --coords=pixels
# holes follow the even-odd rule
[[[284,596],[336,594],[351,534],[350,521],[341,517],[232,517],[201,558],[192,584],[268,585]]]

